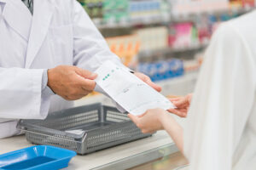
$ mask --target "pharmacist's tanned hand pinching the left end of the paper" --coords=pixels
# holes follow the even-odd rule
[[[81,99],[90,94],[95,86],[95,73],[76,66],[60,65],[48,70],[48,86],[67,100]]]

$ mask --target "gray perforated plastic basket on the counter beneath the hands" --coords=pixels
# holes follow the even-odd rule
[[[43,121],[20,120],[17,128],[34,144],[55,145],[81,155],[152,135],[141,133],[125,114],[101,104],[54,112]],[[73,133],[77,129],[79,133]]]

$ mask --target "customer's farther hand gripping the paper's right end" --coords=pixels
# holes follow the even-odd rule
[[[192,97],[193,97],[193,94],[188,94],[184,97],[170,99],[173,105],[177,107],[177,109],[170,109],[168,111],[177,116],[186,117],[188,115],[189,106],[190,106]]]

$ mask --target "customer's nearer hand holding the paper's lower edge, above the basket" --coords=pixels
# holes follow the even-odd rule
[[[154,133],[163,130],[162,120],[166,116],[166,111],[162,109],[152,109],[146,111],[142,116],[128,114],[132,122],[139,127],[143,133]]]

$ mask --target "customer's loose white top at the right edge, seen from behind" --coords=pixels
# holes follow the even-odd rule
[[[256,169],[256,11],[218,28],[184,127],[191,170]]]

